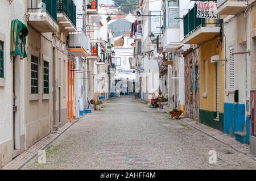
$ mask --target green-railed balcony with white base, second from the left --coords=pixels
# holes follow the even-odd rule
[[[63,32],[76,32],[76,5],[72,0],[57,0],[57,22]]]

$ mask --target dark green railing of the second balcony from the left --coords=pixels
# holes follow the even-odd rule
[[[72,0],[57,0],[57,12],[65,13],[76,27],[76,5]]]

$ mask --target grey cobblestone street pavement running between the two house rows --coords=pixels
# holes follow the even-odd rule
[[[256,169],[256,161],[133,96],[86,115],[23,169]],[[209,150],[217,164],[209,164]]]

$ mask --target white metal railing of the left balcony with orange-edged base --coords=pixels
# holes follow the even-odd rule
[[[86,52],[90,50],[90,47],[88,47],[88,45],[90,44],[89,36],[85,35],[85,32],[82,29],[80,31],[70,33],[68,36],[69,48],[83,48],[84,50],[86,50]]]

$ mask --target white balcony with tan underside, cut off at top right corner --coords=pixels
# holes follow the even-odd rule
[[[237,15],[243,12],[247,8],[247,1],[239,0],[218,0],[219,15]]]

